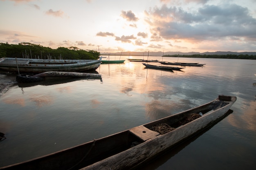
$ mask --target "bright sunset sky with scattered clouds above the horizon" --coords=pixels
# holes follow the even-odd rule
[[[0,0],[0,42],[121,51],[256,51],[256,0]]]

